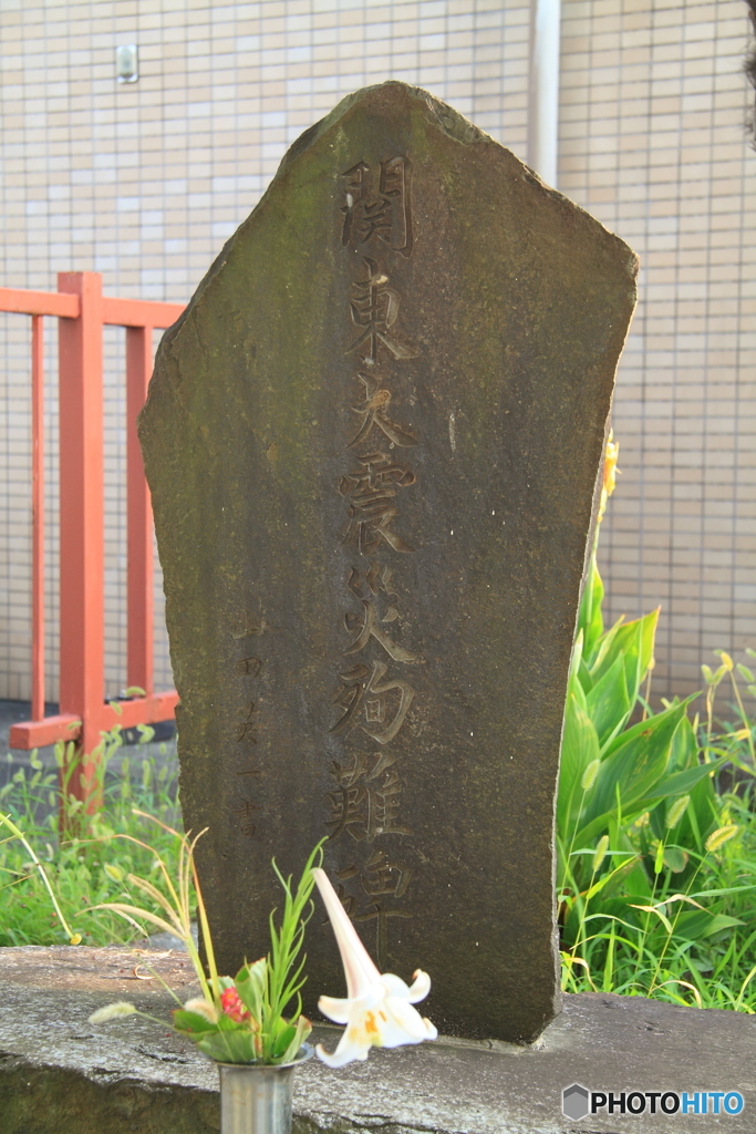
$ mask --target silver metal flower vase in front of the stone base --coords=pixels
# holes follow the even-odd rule
[[[290,1134],[294,1074],[312,1055],[303,1043],[288,1064],[219,1064],[221,1134]]]

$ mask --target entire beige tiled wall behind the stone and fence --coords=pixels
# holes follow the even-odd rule
[[[560,187],[644,260],[604,523],[611,612],[664,607],[656,688],[756,640],[753,218],[742,0],[563,0]],[[188,298],[287,145],[342,95],[400,78],[525,156],[524,0],[2,0],[0,284],[96,270]],[[116,82],[118,44],[139,81]],[[28,330],[0,316],[0,696],[28,695]],[[122,332],[107,337],[108,688],[125,682]],[[54,328],[48,333],[54,575]],[[750,369],[749,369],[750,367]],[[158,581],[159,591],[159,581]],[[56,697],[54,585],[48,695]],[[158,679],[170,683],[159,608]]]

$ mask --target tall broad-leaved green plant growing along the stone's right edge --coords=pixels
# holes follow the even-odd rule
[[[600,522],[617,451],[610,439]],[[679,999],[680,989],[699,995],[680,975],[690,975],[696,949],[742,925],[724,912],[733,887],[703,885],[714,850],[737,830],[713,782],[727,755],[699,750],[688,716],[695,696],[652,710],[660,612],[605,628],[598,532],[570,667],[557,806],[564,982],[596,987],[600,974],[609,990],[621,968],[625,991],[665,989]]]

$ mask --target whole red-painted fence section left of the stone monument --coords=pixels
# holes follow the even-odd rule
[[[0,288],[0,311],[32,318],[32,719],[14,725],[10,746],[76,739],[85,753],[75,794],[95,806],[96,769],[86,756],[114,725],[173,717],[176,689],[153,688],[152,509],[136,435],[152,373],[153,328],[170,327],[181,304],[102,295],[99,272],[61,272],[58,291]],[[59,320],[60,711],[44,716],[44,316]],[[104,692],[105,324],[126,328],[127,685],[145,691],[119,703]]]

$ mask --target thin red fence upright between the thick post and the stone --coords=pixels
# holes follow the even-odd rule
[[[136,418],[152,375],[152,328],[126,329],[127,618],[129,686],[153,693],[152,505]]]

